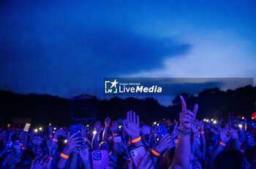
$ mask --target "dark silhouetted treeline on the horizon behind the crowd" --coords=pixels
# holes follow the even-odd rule
[[[181,93],[192,109],[199,103],[199,118],[226,117],[232,111],[236,115],[250,116],[255,112],[256,87],[246,86],[236,90],[222,91],[219,88],[203,90],[197,95]],[[55,122],[59,125],[71,123],[70,101],[53,95],[20,95],[17,93],[0,91],[0,122],[11,122],[13,117],[30,117],[35,124]],[[97,117],[105,119],[123,118],[127,110],[135,110],[140,119],[152,122],[162,118],[178,118],[181,111],[179,96],[173,100],[173,106],[162,106],[154,98],[110,98],[97,100]]]

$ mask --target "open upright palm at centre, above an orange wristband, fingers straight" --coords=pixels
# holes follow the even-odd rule
[[[135,111],[127,111],[127,119],[124,119],[123,127],[132,139],[140,136],[140,117],[136,116]]]

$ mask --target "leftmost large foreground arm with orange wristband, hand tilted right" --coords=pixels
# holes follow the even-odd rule
[[[82,145],[83,138],[75,137],[75,135],[77,135],[78,133],[80,133],[80,131],[68,137],[67,146],[65,146],[63,152],[61,153],[57,168],[66,168],[67,161],[69,160],[69,155],[74,151],[74,149],[77,149],[79,146]]]

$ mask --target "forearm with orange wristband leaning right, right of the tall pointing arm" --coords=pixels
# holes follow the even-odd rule
[[[230,141],[231,135],[227,134],[228,128],[225,127],[222,129],[219,133],[219,144],[217,148],[214,150],[213,154],[211,154],[210,159],[207,162],[208,168],[213,168],[214,167],[214,162],[216,160],[217,155],[222,152],[227,144],[228,141]]]

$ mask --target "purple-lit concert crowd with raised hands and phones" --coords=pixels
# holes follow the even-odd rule
[[[135,111],[120,122],[44,130],[0,130],[1,168],[256,168],[255,119],[199,120],[181,96],[178,121],[143,124]]]

